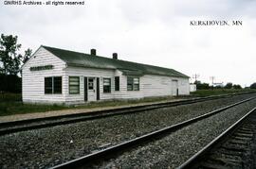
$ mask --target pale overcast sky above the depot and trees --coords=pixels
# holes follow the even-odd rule
[[[40,1],[40,0],[37,0]],[[69,0],[71,1],[71,0]],[[85,0],[83,6],[0,3],[0,33],[41,44],[175,69],[211,83],[256,82],[256,2],[253,0]],[[46,2],[41,0],[41,2]],[[228,21],[229,25],[191,25]],[[242,21],[243,25],[231,25]],[[191,82],[194,78],[191,79]]]

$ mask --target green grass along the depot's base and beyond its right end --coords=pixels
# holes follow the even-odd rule
[[[212,90],[198,90],[191,93],[191,96],[209,96],[226,93],[241,93],[241,92],[256,92],[256,90],[227,90],[214,89]],[[79,106],[63,106],[63,105],[39,105],[39,104],[24,104],[21,101],[21,94],[15,93],[0,93],[0,116],[23,114],[30,112],[46,112],[49,110],[68,110],[68,109],[92,109],[92,108],[106,108],[115,106],[135,105],[138,103],[150,103],[156,101],[171,100],[174,97],[150,97],[134,100],[109,100],[101,102],[91,102]]]

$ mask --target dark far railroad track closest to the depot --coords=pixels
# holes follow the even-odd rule
[[[10,134],[10,133],[19,132],[19,131],[26,131],[30,129],[38,129],[43,127],[54,127],[54,126],[66,125],[71,123],[106,118],[106,117],[117,116],[122,114],[136,113],[138,111],[144,111],[144,110],[155,110],[159,108],[187,105],[187,104],[192,104],[197,102],[209,101],[213,99],[231,97],[238,94],[245,94],[245,93],[215,95],[215,96],[192,98],[192,99],[186,99],[186,100],[174,101],[174,102],[136,106],[132,108],[129,107],[129,108],[119,108],[115,110],[99,110],[94,112],[65,114],[65,115],[51,116],[51,117],[44,117],[44,118],[4,122],[4,123],[0,123],[0,135]]]

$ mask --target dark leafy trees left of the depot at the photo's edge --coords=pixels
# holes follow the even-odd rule
[[[0,37],[0,93],[21,93],[21,65],[30,58],[31,49],[19,54],[18,37],[1,34]]]

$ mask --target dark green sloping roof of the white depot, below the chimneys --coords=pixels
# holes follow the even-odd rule
[[[124,75],[143,76],[143,75],[159,75],[159,76],[176,76],[186,77],[174,69],[168,69],[148,64],[141,64],[121,59],[109,59],[100,56],[92,56],[89,54],[58,49],[42,45],[48,52],[56,57],[64,60],[68,66],[90,67],[99,69],[118,69]]]

